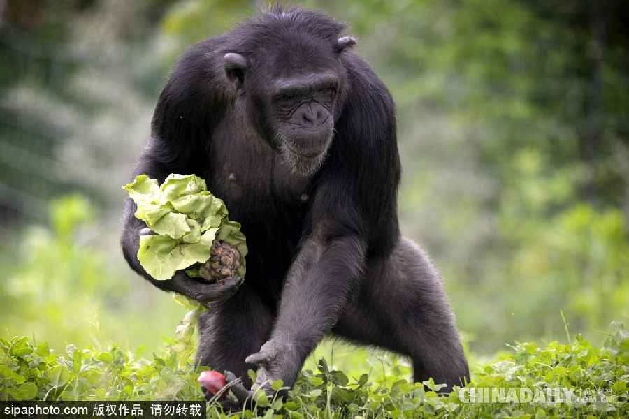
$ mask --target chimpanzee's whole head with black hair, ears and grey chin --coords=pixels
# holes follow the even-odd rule
[[[340,37],[344,25],[322,14],[323,26],[294,9],[274,17],[248,23],[247,34],[236,29],[224,69],[261,137],[293,172],[311,175],[324,161],[342,110],[341,52],[356,41]]]

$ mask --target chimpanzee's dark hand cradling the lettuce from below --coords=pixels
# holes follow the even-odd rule
[[[142,228],[138,234],[141,236],[155,233],[150,228]],[[236,294],[243,279],[231,277],[215,284],[208,284],[203,280],[192,279],[185,270],[180,270],[172,279],[159,282],[160,288],[185,295],[207,307],[212,302],[226,300]]]

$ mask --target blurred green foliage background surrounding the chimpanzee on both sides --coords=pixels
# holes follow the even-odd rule
[[[260,3],[9,3],[0,28],[0,228],[16,212],[45,220],[36,207],[68,190],[99,208],[66,207],[73,226],[98,217],[87,241],[57,221],[7,228],[24,249],[0,254],[0,314],[12,334],[79,338],[91,329],[69,323],[85,307],[99,307],[101,328],[139,330],[131,335],[149,346],[147,335],[169,333],[147,329],[178,323],[182,314],[164,309],[176,304],[115,249],[120,186],[175,57]],[[563,339],[560,310],[591,341],[610,321],[629,321],[628,2],[301,4],[349,22],[356,51],[396,99],[403,233],[440,267],[470,351]],[[59,274],[52,258],[64,261]],[[44,273],[55,279],[42,284]],[[52,295],[67,307],[54,307]],[[30,301],[42,298],[67,327],[37,317]]]

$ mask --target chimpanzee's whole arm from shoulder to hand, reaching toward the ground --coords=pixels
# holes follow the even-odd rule
[[[398,239],[400,161],[391,94],[357,56],[348,57],[347,106],[310,207],[310,230],[287,274],[271,338],[247,362],[255,386],[291,386],[308,354],[338,321],[366,270]]]

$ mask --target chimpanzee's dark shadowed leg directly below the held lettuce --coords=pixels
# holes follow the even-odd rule
[[[196,363],[221,373],[233,372],[250,386],[247,371],[257,366],[247,364],[245,358],[268,340],[272,324],[271,307],[245,281],[236,295],[212,303],[199,317]]]

